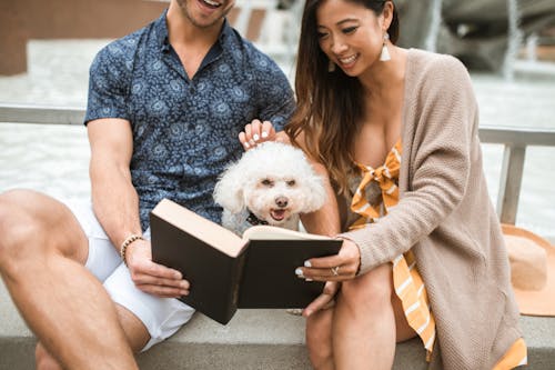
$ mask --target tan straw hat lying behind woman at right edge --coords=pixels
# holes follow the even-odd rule
[[[555,316],[555,247],[515,226],[502,224],[502,229],[521,313]]]

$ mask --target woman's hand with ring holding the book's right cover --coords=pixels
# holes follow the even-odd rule
[[[351,240],[344,239],[335,256],[313,258],[297,268],[295,273],[303,279],[316,281],[345,281],[356,277],[361,264],[361,251]]]

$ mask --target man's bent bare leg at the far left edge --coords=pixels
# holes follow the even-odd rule
[[[83,267],[88,241],[67,207],[32,191],[1,194],[0,234],[2,279],[48,352],[69,369],[137,369],[114,304]]]

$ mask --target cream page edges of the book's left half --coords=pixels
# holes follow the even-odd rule
[[[163,199],[152,212],[178,229],[188,232],[228,256],[239,256],[245,246],[245,241],[234,232],[169,199]]]

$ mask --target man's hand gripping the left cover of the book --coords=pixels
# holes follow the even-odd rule
[[[137,288],[161,298],[179,298],[189,294],[189,281],[181,272],[152,262],[150,241],[138,240],[127,250],[127,262]]]

